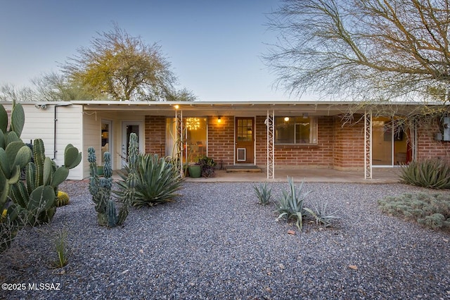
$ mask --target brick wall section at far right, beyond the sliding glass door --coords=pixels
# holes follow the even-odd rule
[[[435,140],[435,134],[439,132],[439,122],[428,120],[427,123],[419,122],[417,128],[418,160],[439,158],[450,162],[450,142]]]

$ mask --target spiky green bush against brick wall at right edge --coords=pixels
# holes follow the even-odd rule
[[[401,167],[400,179],[408,185],[430,189],[450,189],[450,164],[433,159],[411,161]]]

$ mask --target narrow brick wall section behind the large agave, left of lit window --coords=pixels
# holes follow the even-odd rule
[[[146,115],[144,127],[146,153],[165,156],[166,118],[160,115]]]

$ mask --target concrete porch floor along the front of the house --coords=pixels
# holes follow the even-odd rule
[[[284,182],[287,177],[293,177],[295,182],[352,182],[352,183],[396,183],[399,182],[399,168],[373,168],[372,179],[364,179],[364,170],[340,171],[333,169],[276,169],[275,178],[267,179],[266,169],[261,173],[226,173],[216,170],[215,176],[210,178],[186,177],[188,182]]]

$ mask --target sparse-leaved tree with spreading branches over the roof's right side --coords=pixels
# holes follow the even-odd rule
[[[446,101],[449,6],[449,0],[284,0],[269,15],[279,36],[264,58],[278,87],[294,94]]]

